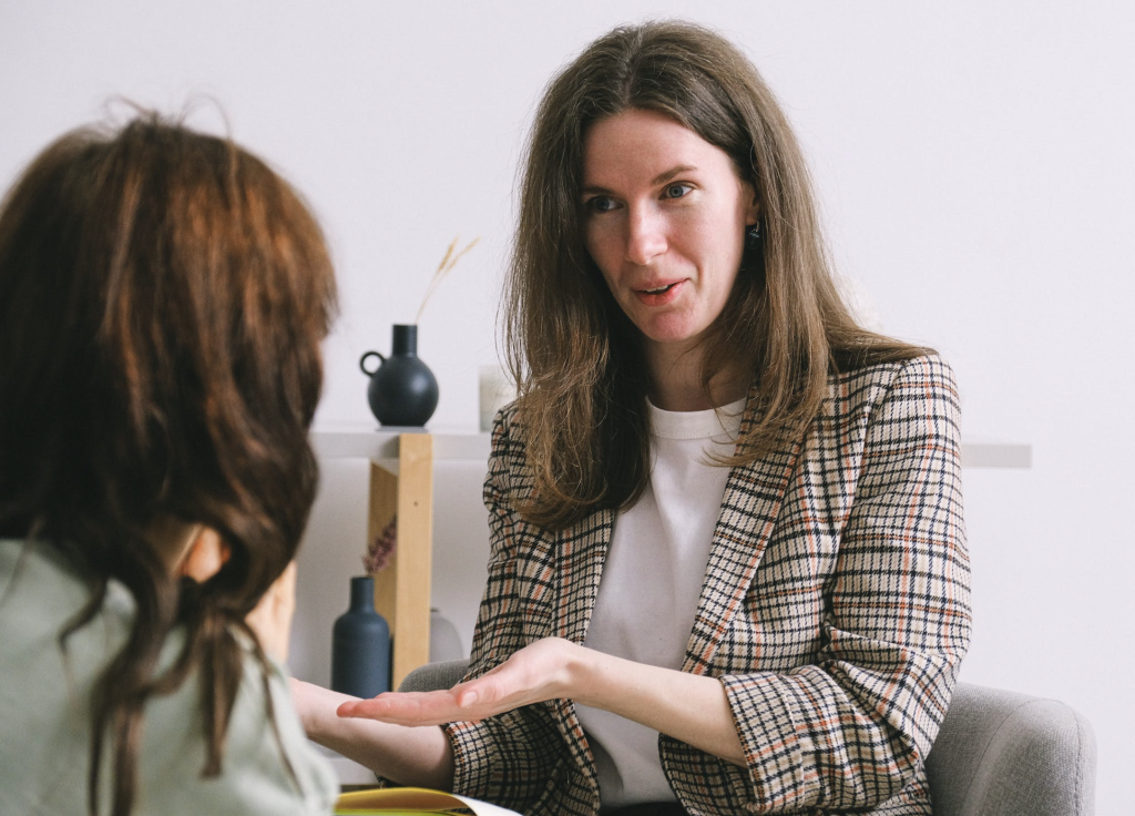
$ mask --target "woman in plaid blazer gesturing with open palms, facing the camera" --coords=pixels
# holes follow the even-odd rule
[[[297,685],[309,732],[526,813],[930,814],[969,638],[957,390],[843,305],[771,92],[712,32],[615,30],[549,85],[521,213],[469,675],[339,718]],[[695,414],[725,440],[666,441]],[[675,631],[634,567],[699,546]],[[659,611],[670,664],[634,642]]]

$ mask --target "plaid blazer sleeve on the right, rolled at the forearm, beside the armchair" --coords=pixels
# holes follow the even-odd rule
[[[957,388],[938,357],[880,389],[825,581],[818,659],[722,678],[756,813],[872,808],[922,773],[970,632]]]

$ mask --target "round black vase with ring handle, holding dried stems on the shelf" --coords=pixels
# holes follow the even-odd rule
[[[367,360],[381,362],[373,371],[367,370]],[[437,378],[418,356],[418,327],[394,327],[390,356],[367,352],[359,360],[359,368],[370,377],[367,398],[370,410],[381,424],[420,428],[429,421],[437,407]]]

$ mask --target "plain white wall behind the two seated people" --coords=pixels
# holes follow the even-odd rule
[[[343,317],[320,422],[368,418],[359,355],[413,319],[453,236],[481,236],[420,342],[442,385],[431,424],[471,428],[532,106],[591,37],[659,15],[745,45],[799,128],[835,258],[883,328],[952,361],[968,437],[1033,445],[1032,470],[965,473],[976,629],[964,676],[1086,713],[1099,811],[1128,810],[1129,5],[0,0],[0,182],[111,94],[163,109],[211,94],[235,136],[305,191],[334,246]],[[463,507],[438,515],[439,567],[484,552],[478,478],[439,473],[440,502]],[[335,607],[362,494],[348,465],[327,481],[304,554],[322,573],[301,604]],[[471,615],[482,578],[462,562],[435,597],[461,596],[446,612]],[[318,629],[299,634],[296,658],[314,661]]]

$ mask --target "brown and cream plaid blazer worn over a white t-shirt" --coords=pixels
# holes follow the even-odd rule
[[[749,409],[742,430],[753,421]],[[730,472],[682,671],[724,684],[747,767],[662,735],[691,814],[931,813],[923,763],[970,630],[959,470],[953,375],[924,356],[833,376],[801,438]],[[549,531],[511,508],[530,489],[506,409],[485,483],[491,556],[470,676],[540,638],[587,632],[614,514]],[[455,791],[597,813],[571,700],[447,731]]]

